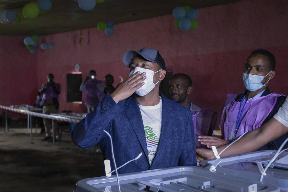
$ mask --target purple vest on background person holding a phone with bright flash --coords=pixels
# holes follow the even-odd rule
[[[92,81],[91,79],[89,79],[88,81],[85,82],[85,92],[86,92],[86,101],[85,101],[85,105],[95,105],[97,106],[98,103],[106,96],[103,91],[100,91],[98,86],[103,88],[104,90],[104,86],[105,83],[104,81],[101,80],[97,80],[98,83],[96,83],[96,81]]]

